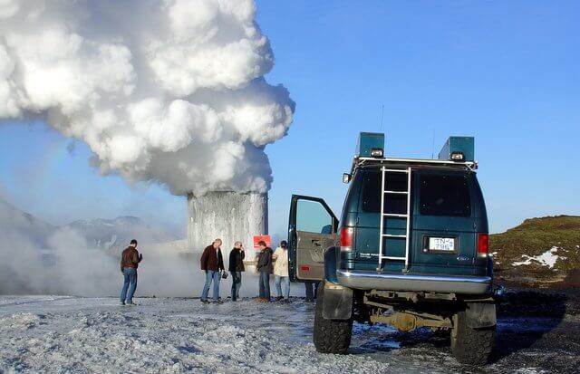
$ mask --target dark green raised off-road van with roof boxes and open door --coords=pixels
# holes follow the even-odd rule
[[[291,278],[321,282],[314,346],[346,353],[353,321],[427,327],[449,333],[459,362],[484,364],[496,306],[474,139],[450,137],[437,159],[383,152],[383,134],[361,133],[340,221],[323,199],[292,197]]]

